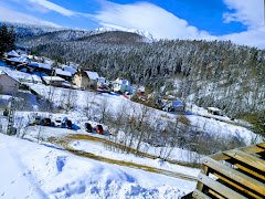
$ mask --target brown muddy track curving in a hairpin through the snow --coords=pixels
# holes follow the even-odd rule
[[[165,170],[165,169],[159,169],[159,168],[140,165],[140,164],[135,164],[135,163],[130,163],[130,161],[124,161],[124,160],[112,159],[112,158],[107,158],[107,157],[103,157],[103,156],[97,156],[92,153],[74,149],[70,146],[70,143],[72,143],[73,140],[81,140],[81,139],[106,142],[106,139],[94,137],[94,136],[88,136],[88,135],[68,135],[68,136],[60,137],[60,138],[52,137],[49,140],[51,143],[62,146],[67,151],[75,154],[77,156],[82,156],[82,157],[86,157],[86,158],[91,158],[91,159],[95,159],[95,160],[99,160],[99,161],[104,161],[104,163],[108,163],[108,164],[115,164],[115,165],[119,165],[119,166],[141,169],[141,170],[146,170],[149,172],[160,174],[160,175],[165,175],[165,176],[169,176],[169,177],[173,177],[173,178],[197,181],[197,178],[194,176],[184,175],[184,174],[180,174],[180,172],[176,172],[176,171],[169,171],[169,170]],[[145,153],[142,153],[142,154],[145,154]],[[151,155],[147,155],[145,157],[150,158],[150,156]]]

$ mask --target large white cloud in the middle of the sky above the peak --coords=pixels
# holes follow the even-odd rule
[[[94,15],[100,25],[145,30],[156,38],[209,39],[208,32],[189,25],[172,13],[147,2],[118,4],[105,1],[103,9]]]

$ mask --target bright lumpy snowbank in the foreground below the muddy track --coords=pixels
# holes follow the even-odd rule
[[[2,134],[0,150],[1,198],[180,198],[195,187]]]

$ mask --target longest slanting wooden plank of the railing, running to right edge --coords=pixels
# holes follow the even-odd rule
[[[234,181],[247,186],[250,189],[265,196],[265,185],[209,157],[204,158],[204,165]]]

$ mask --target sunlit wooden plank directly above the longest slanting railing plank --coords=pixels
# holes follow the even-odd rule
[[[239,161],[242,161],[246,165],[250,165],[251,167],[254,167],[265,172],[265,160],[261,158],[251,156],[237,149],[227,150],[227,151],[224,151],[224,154],[230,156],[231,158],[237,159]]]

